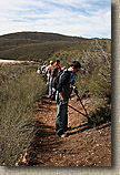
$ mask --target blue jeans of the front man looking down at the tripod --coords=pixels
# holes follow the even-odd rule
[[[58,110],[56,119],[56,134],[61,135],[67,131],[68,127],[68,103],[61,104],[60,97],[57,99]]]

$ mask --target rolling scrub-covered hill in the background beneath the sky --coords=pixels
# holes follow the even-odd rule
[[[96,40],[57,33],[18,32],[4,34],[0,37],[0,59],[42,62],[61,51],[82,52],[91,47],[92,42]]]

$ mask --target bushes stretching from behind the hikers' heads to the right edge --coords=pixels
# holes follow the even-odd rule
[[[83,48],[82,48],[83,49]],[[52,55],[54,61],[60,59],[60,65],[69,68],[74,60],[80,61],[82,68],[78,74],[76,85],[81,97],[90,97],[94,121],[110,117],[111,113],[111,42],[110,40],[94,40],[83,50],[74,45],[71,50],[60,50]],[[107,112],[107,113],[106,113]],[[101,117],[102,114],[102,117]]]

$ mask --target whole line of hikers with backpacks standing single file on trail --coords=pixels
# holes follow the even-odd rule
[[[44,68],[44,69],[43,69]],[[50,61],[50,65],[42,65],[41,73],[44,70],[47,75],[47,83],[49,86],[49,97],[57,102],[57,119],[56,119],[56,134],[59,137],[67,137],[66,133],[68,127],[68,101],[74,86],[74,80],[77,79],[77,72],[80,70],[81,64],[78,61],[73,61],[68,69],[60,66],[60,60]]]

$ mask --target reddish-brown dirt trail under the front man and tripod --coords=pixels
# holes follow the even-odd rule
[[[83,112],[76,97],[70,104]],[[36,114],[38,133],[32,166],[111,166],[111,124],[89,128],[87,119],[69,109],[72,130],[68,137],[60,138],[56,135],[56,102],[46,96]]]

